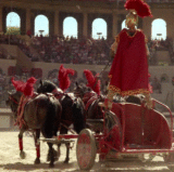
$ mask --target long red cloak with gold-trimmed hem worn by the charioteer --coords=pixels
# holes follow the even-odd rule
[[[130,37],[127,29],[119,35],[119,44],[111,70],[109,90],[125,95],[149,93],[148,59],[142,30]]]

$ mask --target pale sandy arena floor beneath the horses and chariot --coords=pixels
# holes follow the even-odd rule
[[[64,164],[63,160],[65,158],[65,147],[61,147],[61,157],[59,161],[55,162],[53,169],[49,168],[46,161],[48,146],[46,143],[41,142],[41,156],[40,164],[34,164],[36,158],[36,151],[34,146],[34,140],[28,134],[24,134],[24,150],[26,153],[26,158],[20,158],[18,151],[18,132],[0,132],[0,172],[79,172],[79,168],[76,161],[75,147],[71,150],[70,163]],[[148,163],[136,163],[136,162],[108,162],[105,166],[101,166],[98,162],[98,157],[96,163],[90,170],[90,172],[170,172],[167,167],[162,166],[163,159],[161,157],[154,158],[152,164],[149,167]],[[158,167],[160,164],[161,167]]]

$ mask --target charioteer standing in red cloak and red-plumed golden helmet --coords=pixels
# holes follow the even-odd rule
[[[148,108],[152,107],[150,96],[147,38],[141,29],[137,29],[138,16],[152,17],[149,5],[141,0],[127,0],[125,9],[126,26],[111,45],[114,59],[109,72],[108,98],[100,106],[112,108],[114,95],[145,95]]]

